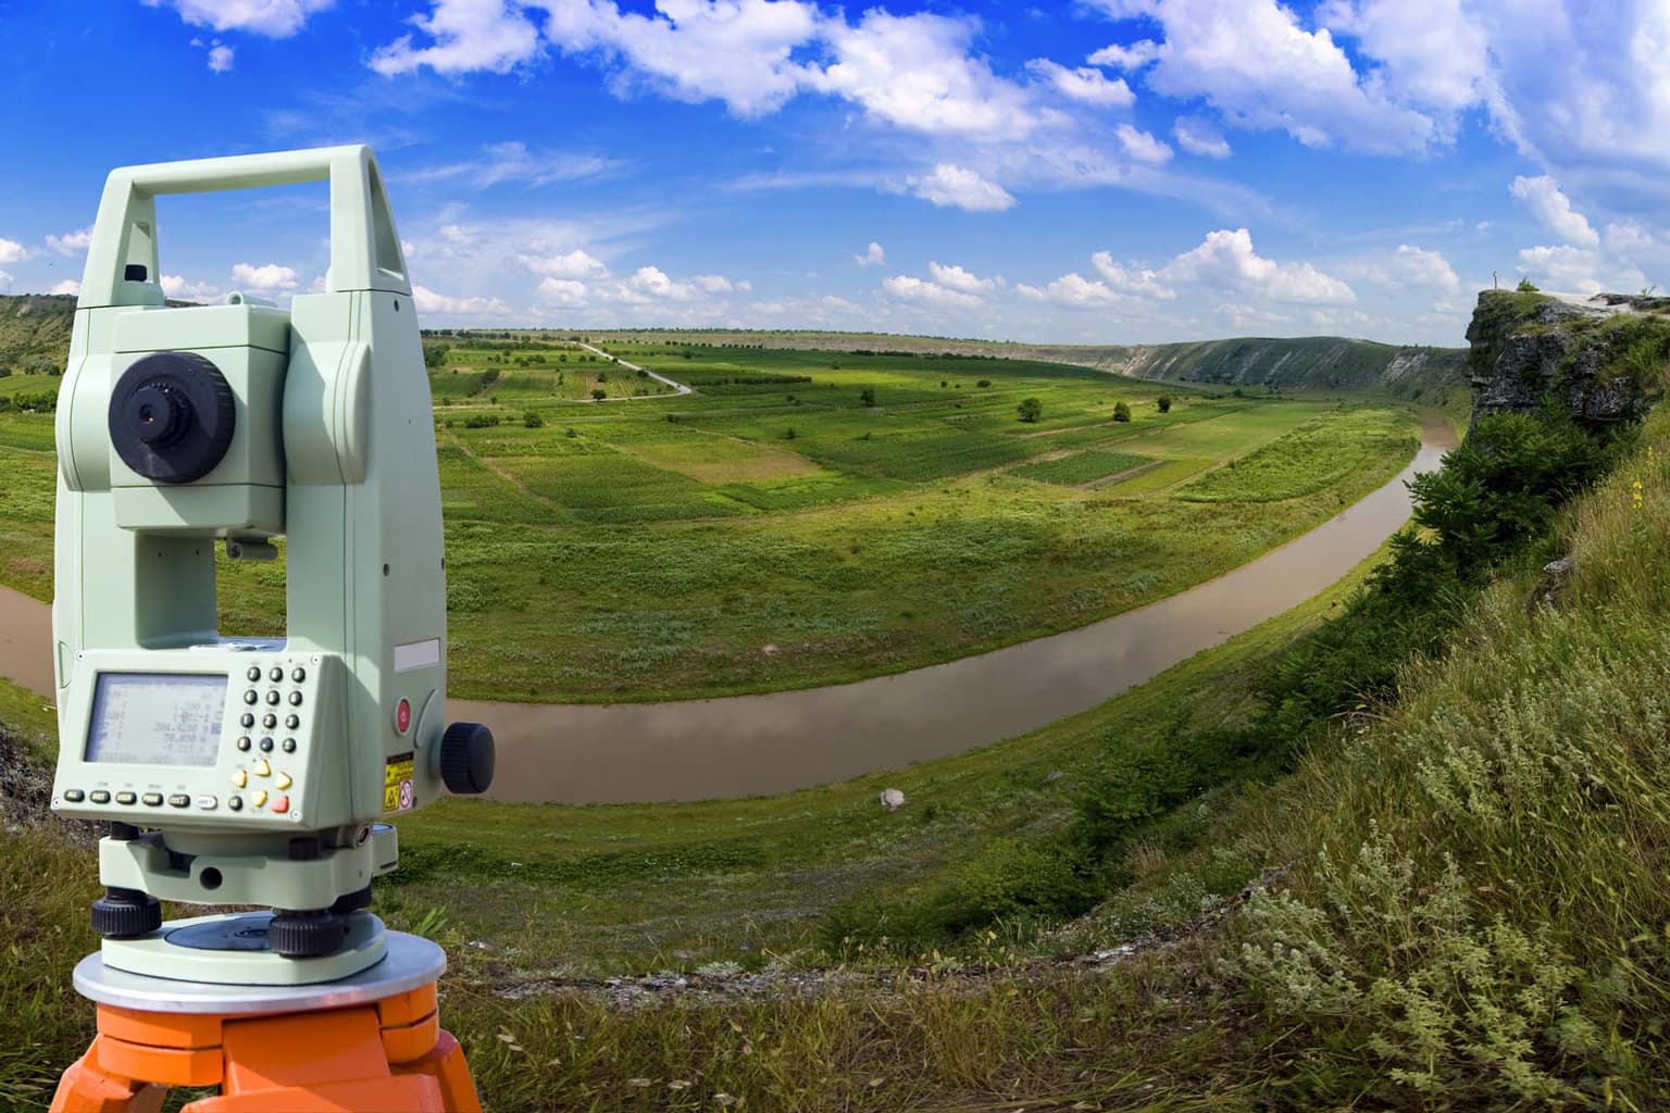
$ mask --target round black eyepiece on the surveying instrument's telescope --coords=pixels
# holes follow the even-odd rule
[[[235,415],[232,387],[209,359],[154,352],[110,392],[110,444],[145,479],[194,482],[225,457]]]

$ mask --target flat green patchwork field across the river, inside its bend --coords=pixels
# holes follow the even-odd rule
[[[1070,629],[1309,529],[1416,442],[1396,402],[1167,385],[1161,414],[1157,384],[1059,364],[518,337],[426,337],[459,696],[770,691]],[[0,409],[0,581],[47,599],[50,414]],[[220,582],[224,629],[276,632],[282,564]]]

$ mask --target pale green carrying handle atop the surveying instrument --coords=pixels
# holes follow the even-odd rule
[[[122,167],[105,180],[87,249],[78,307],[155,304],[157,204],[162,194],[331,182],[331,270],[326,289],[411,294],[376,155],[362,144],[264,155]],[[144,275],[137,269],[144,267]]]

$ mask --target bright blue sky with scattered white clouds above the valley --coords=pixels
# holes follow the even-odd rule
[[[369,142],[428,325],[1463,344],[1670,285],[1670,3],[0,0],[0,290],[110,167]],[[286,299],[322,187],[164,199]]]

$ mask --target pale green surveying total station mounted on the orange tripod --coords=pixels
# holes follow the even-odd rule
[[[329,180],[331,269],[291,307],[169,305],[155,197]],[[481,793],[444,728],[434,417],[366,147],[110,174],[57,417],[52,806],[99,819],[107,966],[299,985],[382,956],[389,819]],[[219,632],[215,554],[276,559],[286,636]],[[274,909],[162,924],[160,899]]]

